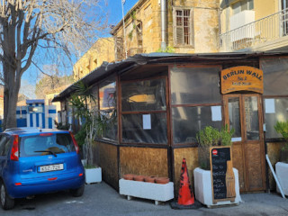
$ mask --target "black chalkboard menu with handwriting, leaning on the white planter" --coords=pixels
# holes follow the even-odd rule
[[[230,147],[211,148],[210,157],[213,201],[227,200],[230,198],[227,197],[227,165],[228,161],[231,161]]]

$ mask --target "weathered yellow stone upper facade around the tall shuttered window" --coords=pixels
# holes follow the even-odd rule
[[[163,42],[175,53],[218,51],[219,0],[164,2],[139,0],[125,15],[125,30],[122,20],[112,29],[116,59],[125,58],[125,49],[127,56],[156,52]]]

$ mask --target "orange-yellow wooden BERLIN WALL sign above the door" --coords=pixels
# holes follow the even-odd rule
[[[229,67],[221,71],[221,93],[251,91],[263,94],[263,71],[255,67]]]

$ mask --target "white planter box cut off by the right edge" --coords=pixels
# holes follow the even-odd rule
[[[276,175],[285,195],[288,195],[288,164],[278,162],[275,165]],[[278,185],[277,192],[280,193]]]

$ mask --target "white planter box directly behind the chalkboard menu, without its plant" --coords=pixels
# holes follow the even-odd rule
[[[212,185],[211,185],[211,171],[203,170],[201,168],[195,168],[193,171],[194,175],[194,187],[195,187],[195,198],[202,204],[206,205],[208,208],[217,205],[229,205],[229,204],[238,204],[241,202],[241,197],[239,193],[239,182],[238,182],[238,170],[233,168],[235,175],[235,192],[236,198],[234,202],[223,201],[213,204],[212,200]]]

